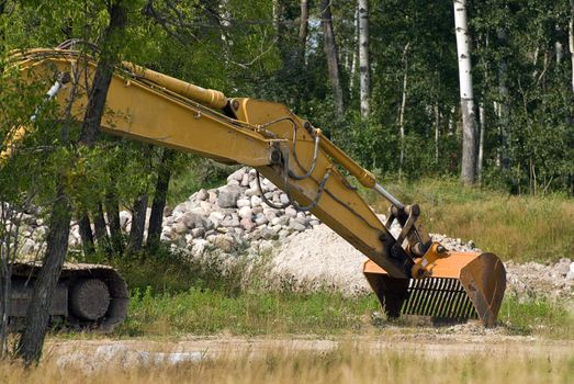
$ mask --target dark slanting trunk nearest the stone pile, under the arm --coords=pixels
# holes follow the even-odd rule
[[[154,194],[154,203],[151,204],[151,214],[149,215],[149,225],[147,228],[147,247],[149,248],[159,245],[164,224],[164,208],[166,207],[173,157],[173,150],[167,148],[164,149],[164,155],[161,156],[161,162],[157,173],[156,192]]]

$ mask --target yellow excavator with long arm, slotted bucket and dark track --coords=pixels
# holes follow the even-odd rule
[[[75,46],[13,53],[10,67],[27,83],[52,84],[47,99],[81,121],[95,60]],[[289,205],[309,211],[367,256],[364,276],[389,318],[401,315],[496,324],[506,271],[493,253],[450,251],[419,224],[420,207],[393,196],[375,176],[285,105],[224,93],[131,63],[114,69],[101,123],[104,133],[193,153],[227,165],[245,165],[282,189]],[[1,161],[9,161],[27,128],[12,128]],[[390,203],[383,223],[349,180]],[[263,202],[267,201],[261,192]],[[393,236],[393,223],[401,233]],[[16,263],[11,318],[25,316],[38,266]],[[105,266],[66,266],[53,316],[86,328],[110,330],[126,317],[127,287]]]

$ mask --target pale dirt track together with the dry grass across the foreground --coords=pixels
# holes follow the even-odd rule
[[[0,366],[0,377],[2,376]],[[42,372],[42,374],[36,374]],[[31,383],[569,383],[574,341],[476,324],[386,326],[365,335],[181,336],[46,345]],[[12,373],[7,383],[22,376]]]

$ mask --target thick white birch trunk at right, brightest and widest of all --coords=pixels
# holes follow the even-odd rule
[[[472,91],[470,35],[466,22],[466,0],[454,0],[454,25],[459,56],[460,98],[462,110],[461,181],[474,184],[476,171],[476,115]]]

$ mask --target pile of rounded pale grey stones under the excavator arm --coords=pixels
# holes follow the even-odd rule
[[[202,189],[168,213],[161,239],[190,249],[193,256],[205,250],[258,255],[270,251],[272,240],[285,239],[320,224],[314,215],[288,205],[288,195],[262,177],[261,191],[273,205],[286,206],[275,208],[266,204],[256,171],[241,168],[227,178],[227,184]]]

